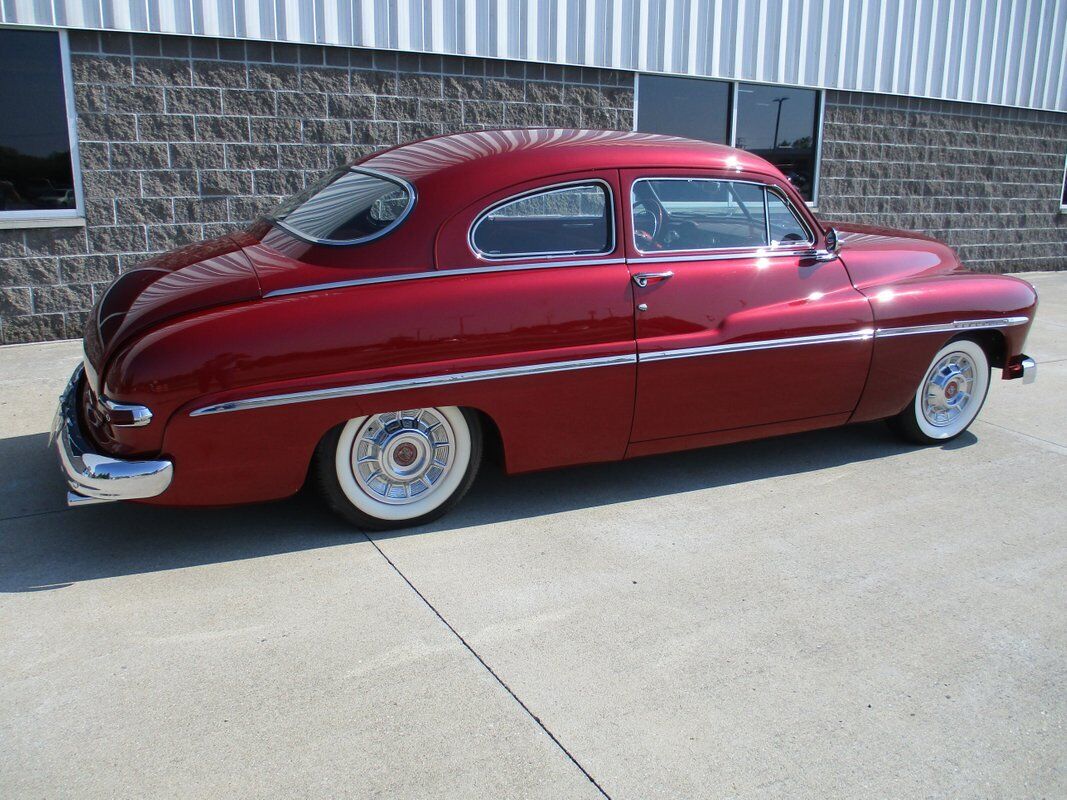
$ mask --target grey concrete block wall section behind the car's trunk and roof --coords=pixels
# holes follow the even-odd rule
[[[335,165],[457,130],[633,127],[633,77],[336,47],[71,32],[85,227],[0,230],[0,343],[82,335],[149,255]]]

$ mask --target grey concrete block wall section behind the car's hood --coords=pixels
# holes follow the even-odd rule
[[[818,213],[921,230],[982,272],[1067,269],[1067,114],[829,92]]]

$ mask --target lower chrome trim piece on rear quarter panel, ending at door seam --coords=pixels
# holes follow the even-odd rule
[[[376,395],[382,391],[403,391],[405,389],[421,389],[430,386],[450,386],[457,383],[474,381],[496,381],[501,378],[523,378],[525,375],[548,374],[551,372],[567,372],[574,369],[592,369],[595,367],[615,367],[625,364],[636,364],[637,355],[606,355],[596,358],[576,358],[567,362],[550,362],[548,364],[529,364],[522,367],[504,367],[501,369],[479,369],[471,372],[451,372],[444,375],[428,375],[426,378],[409,378],[399,381],[383,381],[381,383],[365,383],[351,386],[336,386],[330,389],[310,389],[308,391],[291,391],[285,395],[267,395],[252,397],[246,400],[233,400],[216,405],[206,405],[190,412],[191,417],[206,414],[224,414],[232,411],[264,409],[272,405],[288,405],[291,403],[309,403],[316,400],[335,400],[341,397],[360,397]]]

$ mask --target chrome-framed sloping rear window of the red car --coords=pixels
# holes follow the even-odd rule
[[[283,203],[271,219],[301,239],[357,244],[395,228],[414,203],[407,181],[345,167]]]

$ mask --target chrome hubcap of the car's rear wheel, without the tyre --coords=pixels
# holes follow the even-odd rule
[[[367,417],[352,445],[352,475],[375,499],[414,502],[441,483],[452,466],[456,434],[432,409]]]

